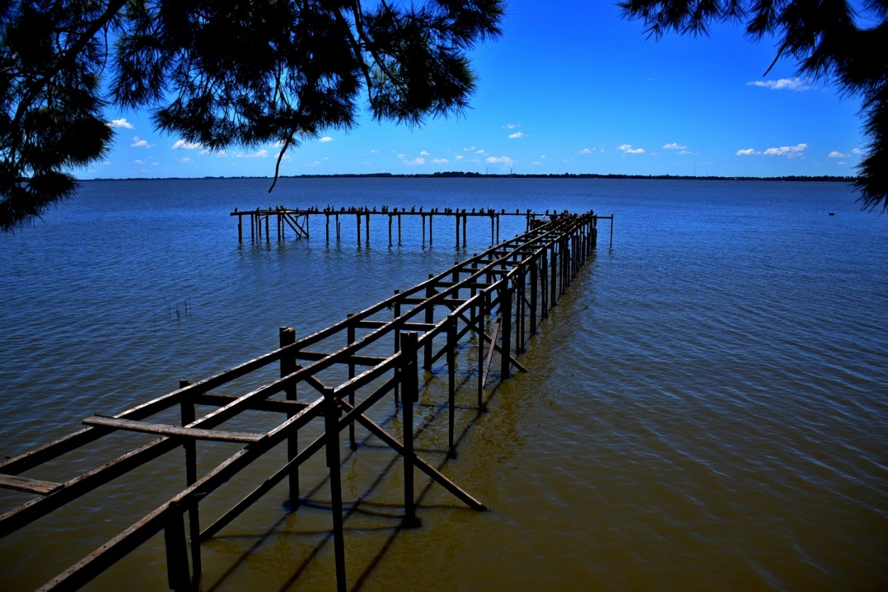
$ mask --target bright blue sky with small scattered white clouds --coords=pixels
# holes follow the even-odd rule
[[[363,113],[350,132],[290,148],[281,174],[515,173],[845,175],[866,139],[860,101],[797,78],[772,41],[740,28],[646,38],[610,0],[508,3],[503,36],[471,54],[463,116],[410,129]],[[278,149],[208,153],[109,109],[115,145],[82,179],[272,176]]]

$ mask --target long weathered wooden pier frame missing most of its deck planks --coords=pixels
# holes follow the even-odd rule
[[[328,220],[337,214],[250,212],[253,236],[257,236],[260,221],[265,221],[265,236],[268,236],[268,220],[279,214],[291,228],[290,223],[304,228],[307,236],[307,218],[312,213],[326,215]],[[367,216],[372,212],[360,213]],[[392,216],[408,213],[432,215],[432,212],[391,212]],[[457,213],[463,220],[472,215],[471,212],[454,212],[454,215]],[[433,212],[433,215],[446,215],[446,212]],[[476,215],[490,216],[483,212]],[[54,510],[99,490],[112,479],[131,473],[151,460],[163,457],[167,463],[184,461],[184,489],[99,548],[84,549],[83,559],[39,589],[81,588],[161,532],[170,588],[197,589],[202,574],[201,542],[216,536],[278,484],[287,484],[291,511],[297,510],[302,501],[300,492],[305,491],[305,484],[300,482],[300,467],[313,455],[324,452],[329,470],[330,539],[334,547],[336,588],[345,590],[344,520],[349,512],[344,508],[341,488],[341,449],[344,438],[351,450],[357,448],[356,428],[368,437],[376,437],[401,459],[403,527],[420,524],[416,508],[417,469],[429,480],[426,484],[440,485],[468,508],[486,509],[482,500],[456,483],[458,475],[448,478],[440,467],[424,460],[417,452],[414,407],[425,377],[429,376],[425,372],[436,366],[440,368],[441,364],[447,368],[447,401],[441,405],[448,414],[447,453],[452,457],[456,454],[458,349],[472,349],[474,365],[468,372],[471,378],[463,380],[462,388],[474,388],[473,404],[479,410],[484,409],[491,377],[506,380],[512,372],[526,372],[518,356],[541,319],[549,316],[551,308],[595,249],[598,220],[603,218],[593,212],[562,213],[547,220],[530,217],[527,212],[518,215],[527,216],[525,234],[457,262],[411,288],[395,291],[391,297],[349,314],[326,329],[297,337],[293,328],[281,328],[280,348],[264,356],[191,384],[182,381],[175,390],[126,411],[93,414],[84,419],[84,427],[74,433],[4,460],[0,463],[0,487],[27,492],[31,497],[0,516],[0,536],[28,528]],[[296,224],[300,216],[304,224]],[[429,221],[431,242],[431,218]],[[464,369],[464,365],[463,361],[460,367]],[[267,380],[269,370],[274,370],[274,380]],[[395,413],[400,412],[400,438],[371,419],[369,412],[377,411],[382,404],[393,404]],[[209,406],[211,411],[200,414],[197,405]],[[165,417],[175,412],[180,417],[180,425],[157,420],[164,412]],[[226,428],[226,422],[234,418],[242,420],[242,426],[245,412],[271,414],[277,419],[271,429]],[[300,437],[300,430],[309,426],[313,427],[310,432],[313,437]],[[147,434],[155,439],[67,481],[47,480],[46,475],[52,468],[58,470],[64,466],[68,453],[88,454],[83,452],[84,448],[121,431]],[[218,443],[239,448],[218,466],[199,475],[197,446],[218,446]],[[286,450],[286,458],[267,454],[279,444]],[[183,448],[184,460],[178,452]],[[271,463],[276,463],[277,468],[211,524],[203,524],[200,508],[210,504],[210,493],[259,459],[264,460],[263,470]],[[27,476],[29,471],[38,468],[41,470],[36,472],[41,478]],[[39,545],[39,541],[35,544]],[[321,559],[314,557],[309,561]]]

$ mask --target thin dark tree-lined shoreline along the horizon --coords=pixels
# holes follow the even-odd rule
[[[769,181],[818,181],[853,183],[857,177],[834,175],[784,175],[781,177],[720,177],[715,175],[621,175],[598,174],[591,172],[563,173],[563,174],[481,174],[480,172],[432,172],[418,174],[395,174],[392,172],[371,173],[344,173],[323,175],[281,175],[279,179],[650,179],[650,180],[769,180]],[[79,181],[109,181],[109,180],[227,180],[227,179],[266,179],[267,176],[234,176],[234,177],[129,177],[129,178],[99,178],[81,179]]]

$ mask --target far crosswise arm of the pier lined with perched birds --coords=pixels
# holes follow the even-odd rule
[[[384,220],[385,218],[388,219],[389,246],[401,244],[401,221],[405,216],[418,216],[422,220],[423,244],[425,244],[426,241],[426,220],[428,221],[429,245],[432,245],[434,242],[435,219],[440,220],[439,225],[442,223],[448,223],[445,221],[448,220],[450,223],[455,223],[457,247],[466,246],[466,227],[468,226],[470,218],[490,220],[490,244],[498,244],[500,242],[500,219],[504,216],[518,216],[525,218],[527,220],[525,232],[529,232],[534,228],[537,222],[542,222],[543,220],[548,221],[551,218],[558,217],[558,213],[550,213],[548,210],[544,213],[531,212],[530,210],[526,210],[525,212],[519,210],[516,210],[515,212],[506,212],[504,209],[496,210],[494,208],[472,208],[471,210],[467,210],[466,208],[430,208],[424,210],[423,207],[418,209],[412,207],[408,210],[403,207],[390,208],[385,205],[374,208],[361,206],[347,208],[340,207],[338,209],[332,206],[322,209],[291,209],[284,207],[283,205],[278,205],[266,209],[257,207],[255,210],[238,210],[237,208],[234,208],[234,212],[231,212],[230,215],[237,216],[238,241],[243,242],[244,219],[247,219],[246,224],[250,227],[250,242],[262,242],[264,238],[267,243],[272,241],[273,234],[277,237],[278,241],[284,240],[288,234],[288,227],[296,238],[308,238],[310,236],[310,220],[313,217],[317,218],[322,216],[324,218],[324,233],[328,244],[330,242],[330,223],[333,223],[333,231],[335,232],[336,241],[339,243],[342,240],[343,220],[350,220],[353,217],[353,224],[355,225],[355,228],[357,228],[356,236],[359,245],[361,244],[361,236],[363,236],[363,241],[366,244],[370,243],[370,217],[373,216],[376,218],[381,216],[384,217]],[[361,222],[363,222],[363,233],[361,233]],[[462,235],[460,235],[461,228]],[[462,242],[460,242],[461,240]]]

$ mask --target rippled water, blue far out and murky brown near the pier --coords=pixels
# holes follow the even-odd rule
[[[604,223],[521,358],[530,372],[488,392],[490,412],[459,418],[446,472],[492,511],[435,485],[423,526],[398,531],[394,471],[375,493],[392,508],[346,521],[350,586],[882,590],[888,224],[853,199],[844,184],[765,181],[282,180],[272,196],[265,180],[84,183],[35,228],[0,236],[0,452],[258,356],[279,326],[316,331],[489,244],[487,222],[470,220],[466,250],[449,224],[429,248],[405,222],[390,248],[380,219],[369,248],[345,221],[339,245],[316,221],[307,241],[239,245],[235,206],[595,209],[614,213],[614,250]],[[423,437],[435,447],[432,428]],[[343,471],[352,499],[377,476],[367,466],[391,459],[356,456]],[[56,468],[71,478],[92,463]],[[154,463],[138,491],[114,486],[99,510],[88,496],[0,540],[4,589],[41,585],[183,480]],[[0,495],[4,509],[28,499]],[[329,544],[294,579],[327,529],[329,512],[288,515],[273,492],[203,545],[203,588],[331,589]],[[88,588],[165,588],[163,561],[155,538]]]

